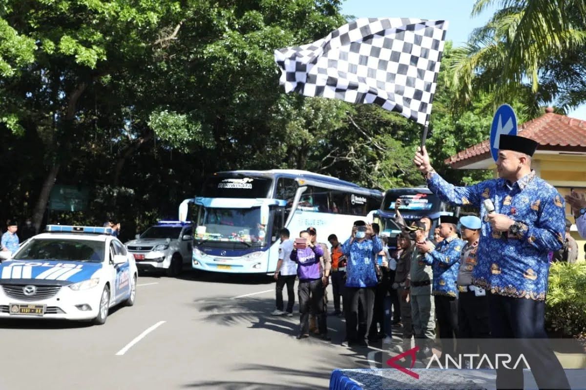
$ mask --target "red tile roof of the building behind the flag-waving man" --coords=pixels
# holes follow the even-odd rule
[[[539,118],[517,126],[517,134],[539,142],[539,150],[586,151],[586,120],[568,118],[546,109]],[[452,168],[477,163],[490,157],[489,140],[458,152],[445,160]]]

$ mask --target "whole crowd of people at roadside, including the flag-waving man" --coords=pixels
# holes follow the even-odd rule
[[[420,148],[414,163],[432,193],[480,213],[459,219],[441,216],[433,233],[429,218],[410,225],[403,221],[393,251],[379,236],[378,226],[363,220],[353,224],[350,238],[341,245],[329,236],[329,250],[317,243],[312,227],[294,241],[283,229],[275,271],[277,309],[272,314],[291,315],[297,275],[297,338],[314,331],[329,340],[324,297],[332,277],[333,315],[345,317],[345,346],[390,338],[387,325],[400,323],[403,342],[397,349],[411,348],[414,338],[417,358],[423,360],[432,354],[437,320],[442,357],[476,353],[478,341],[488,337],[506,339],[510,341],[495,343],[491,352],[522,353],[539,388],[570,388],[553,350],[540,339],[547,339],[544,312],[550,263],[574,262],[577,246],[569,234],[564,198],[531,168],[536,149],[533,140],[502,135],[496,161],[499,178],[455,187],[435,172],[427,151]],[[580,219],[579,229],[586,230],[586,196],[573,193],[566,200]],[[400,219],[398,212],[396,218]],[[330,252],[336,254],[335,265]],[[285,284],[289,296],[287,312],[282,312]],[[339,296],[342,303],[337,303]],[[387,296],[393,302],[391,310],[381,304]],[[496,387],[523,388],[522,368],[499,366]]]

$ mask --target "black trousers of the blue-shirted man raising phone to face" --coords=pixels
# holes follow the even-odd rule
[[[358,306],[362,305],[362,310]],[[346,287],[346,340],[349,343],[363,341],[367,329],[372,323],[374,307],[374,288]],[[358,332],[359,323],[364,324],[364,331]]]

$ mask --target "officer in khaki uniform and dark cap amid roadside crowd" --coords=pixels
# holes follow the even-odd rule
[[[407,229],[414,235],[415,242],[423,243],[427,240],[427,232],[423,222],[413,222]],[[431,265],[425,263],[424,258],[424,253],[421,253],[417,248],[413,250],[410,271],[411,322],[415,334],[415,346],[419,347],[417,352],[419,360],[431,356],[431,345],[435,339],[435,305],[431,297],[433,271]]]

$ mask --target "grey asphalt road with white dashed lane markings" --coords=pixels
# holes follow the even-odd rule
[[[316,389],[333,368],[374,359],[340,346],[338,317],[328,317],[331,342],[297,340],[298,313],[272,310],[267,277],[141,275],[136,304],[110,310],[103,326],[2,322],[0,389]]]

